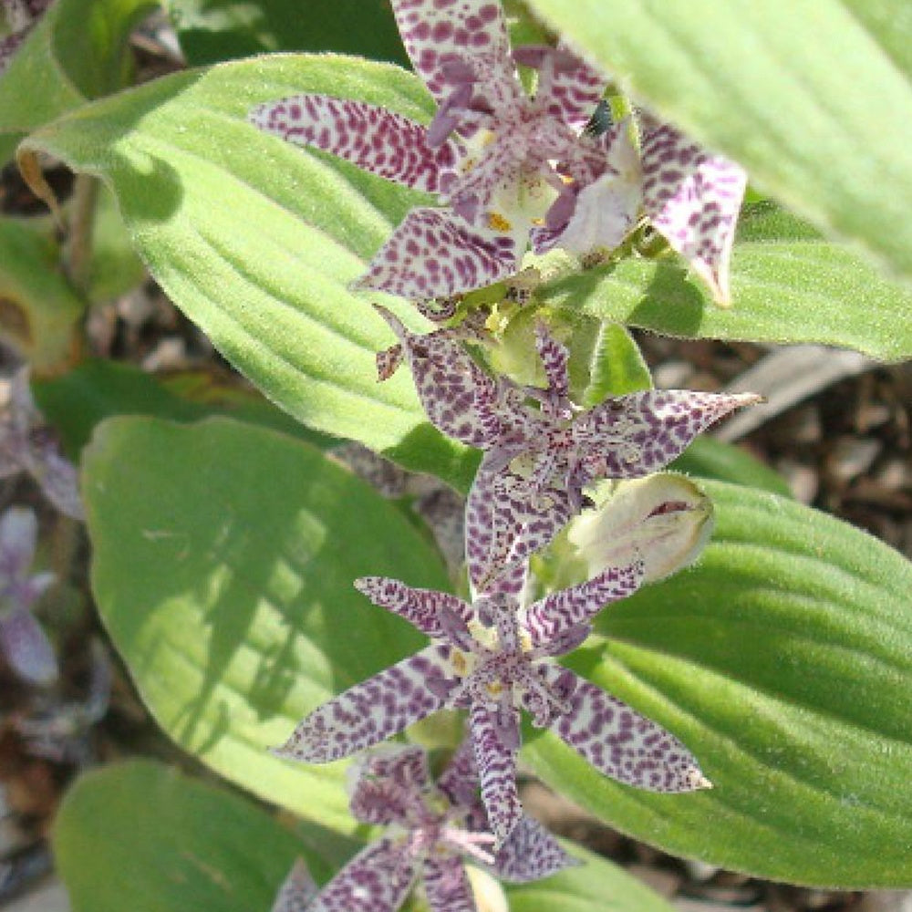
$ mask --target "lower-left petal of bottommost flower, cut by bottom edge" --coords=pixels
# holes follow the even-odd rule
[[[419,863],[404,839],[380,839],[348,862],[307,912],[395,912],[415,883]]]

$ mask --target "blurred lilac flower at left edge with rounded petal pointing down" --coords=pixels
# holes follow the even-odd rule
[[[30,576],[38,523],[35,513],[11,507],[0,517],[0,649],[20,678],[47,684],[57,678],[57,658],[32,606],[54,574]]]

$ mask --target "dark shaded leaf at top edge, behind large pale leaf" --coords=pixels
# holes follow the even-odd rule
[[[408,66],[389,0],[168,0],[192,65],[268,51],[342,51]]]

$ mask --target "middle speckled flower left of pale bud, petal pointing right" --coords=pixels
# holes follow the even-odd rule
[[[578,513],[583,489],[603,478],[658,472],[700,431],[760,397],[649,389],[582,410],[570,401],[568,352],[538,326],[546,389],[486,374],[462,346],[459,329],[410,333],[378,307],[409,362],[421,404],[443,433],[484,451],[466,508],[466,558],[477,592],[514,595],[522,566]],[[399,356],[381,355],[386,373]],[[381,378],[383,373],[381,373]]]

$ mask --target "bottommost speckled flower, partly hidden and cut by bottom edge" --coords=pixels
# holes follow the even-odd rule
[[[510,839],[498,851],[490,850],[493,836],[485,832],[468,740],[436,786],[427,754],[418,747],[374,751],[355,775],[352,814],[362,823],[387,826],[387,834],[356,855],[316,897],[313,882],[296,865],[273,912],[395,912],[419,880],[431,912],[475,912],[466,858],[513,883],[576,864],[541,824],[524,816]]]

